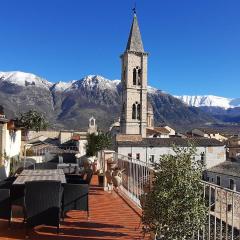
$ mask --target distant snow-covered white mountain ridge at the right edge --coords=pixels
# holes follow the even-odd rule
[[[224,109],[240,107],[240,98],[225,98],[214,95],[204,96],[175,96],[189,106],[220,107]]]

